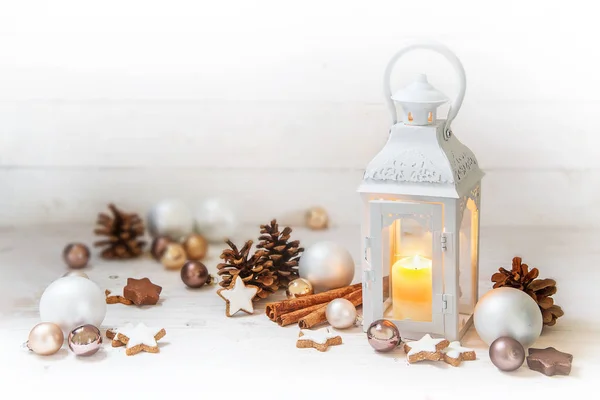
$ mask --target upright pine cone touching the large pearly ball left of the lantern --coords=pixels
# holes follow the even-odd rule
[[[270,225],[261,225],[260,233],[256,248],[266,250],[266,259],[262,263],[277,273],[280,286],[287,287],[290,281],[298,278],[298,262],[304,251],[299,247],[300,241],[289,242],[292,228],[286,227],[280,233],[276,219]]]

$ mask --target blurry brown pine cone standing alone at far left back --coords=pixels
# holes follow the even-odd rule
[[[135,213],[127,214],[109,204],[113,217],[105,213],[98,214],[98,225],[101,228],[94,230],[96,235],[108,236],[105,240],[94,243],[96,247],[106,247],[100,253],[102,258],[135,258],[142,254],[146,242],[139,237],[144,235],[144,222]]]

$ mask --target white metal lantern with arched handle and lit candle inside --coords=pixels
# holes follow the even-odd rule
[[[458,95],[445,120],[436,111],[449,99],[425,75],[392,96],[392,69],[415,49],[441,53],[458,75]],[[363,325],[367,329],[385,318],[398,326],[403,338],[429,333],[458,340],[472,323],[478,297],[483,177],[471,150],[450,129],[464,98],[465,72],[446,47],[417,43],[390,60],[384,84],[393,125],[359,188]],[[397,105],[403,121],[397,120]]]

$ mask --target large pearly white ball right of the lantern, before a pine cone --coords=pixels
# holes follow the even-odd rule
[[[503,287],[490,290],[479,300],[473,323],[488,346],[508,336],[528,348],[540,337],[543,319],[539,306],[527,293]]]

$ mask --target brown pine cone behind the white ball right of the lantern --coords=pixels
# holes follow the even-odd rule
[[[556,293],[556,281],[554,279],[536,279],[539,275],[537,268],[529,271],[529,266],[522,263],[521,257],[513,258],[512,270],[500,268],[492,275],[494,289],[499,287],[512,287],[527,293],[540,307],[544,325],[552,326],[556,320],[564,315],[563,310],[554,304],[551,297]]]

